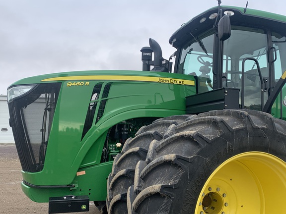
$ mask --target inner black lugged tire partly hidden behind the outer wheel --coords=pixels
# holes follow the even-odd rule
[[[127,190],[134,184],[135,166],[145,160],[149,145],[153,140],[162,140],[170,125],[178,125],[190,118],[189,115],[175,115],[155,120],[143,126],[134,138],[129,138],[113,163],[107,180],[107,210],[112,214],[127,214]]]

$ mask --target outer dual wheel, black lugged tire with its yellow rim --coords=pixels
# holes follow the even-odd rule
[[[210,111],[170,125],[136,165],[128,213],[281,213],[285,130],[285,121],[252,110]]]

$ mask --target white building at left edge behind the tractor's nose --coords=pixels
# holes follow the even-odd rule
[[[9,125],[9,110],[6,95],[0,95],[0,143],[15,143],[12,129]]]

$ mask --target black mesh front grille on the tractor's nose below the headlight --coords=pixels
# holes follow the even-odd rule
[[[8,103],[10,125],[23,171],[43,169],[60,87],[60,83],[39,84]]]

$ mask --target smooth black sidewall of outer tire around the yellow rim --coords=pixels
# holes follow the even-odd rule
[[[208,178],[219,165],[236,155],[264,152],[285,161],[282,149],[286,146],[282,139],[286,139],[284,134],[267,128],[243,128],[205,142],[205,148],[191,160],[191,168],[196,171],[187,172],[184,176],[188,178],[182,179],[185,182],[182,182],[174,192],[176,194],[174,198],[181,203],[181,206],[176,206],[180,210],[173,210],[173,213],[194,214],[197,201],[201,197],[200,193]]]

